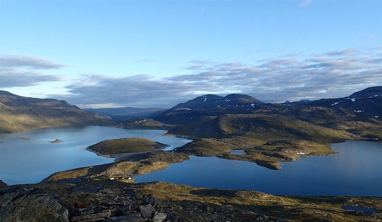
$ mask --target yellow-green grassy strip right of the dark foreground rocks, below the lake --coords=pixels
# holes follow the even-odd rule
[[[249,190],[197,188],[155,182],[137,187],[162,200],[204,202],[235,208],[286,221],[378,221],[382,215],[347,211],[342,206],[364,206],[382,211],[382,198],[356,196],[278,196]],[[240,218],[237,218],[238,220]],[[239,220],[241,221],[241,219]]]

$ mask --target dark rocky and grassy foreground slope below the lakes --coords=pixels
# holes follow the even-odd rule
[[[379,213],[348,211],[364,206]],[[163,182],[29,184],[0,189],[1,221],[380,221],[382,199],[275,196]]]

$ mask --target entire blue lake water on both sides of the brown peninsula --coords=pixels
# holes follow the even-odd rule
[[[113,162],[86,147],[106,139],[145,137],[166,150],[191,141],[163,136],[161,130],[127,130],[87,125],[53,127],[0,135],[0,180],[38,183],[57,171]],[[22,137],[30,140],[21,139]],[[49,143],[60,139],[61,143]],[[283,162],[281,170],[217,157],[191,156],[169,168],[135,176],[135,182],[165,181],[195,187],[257,190],[277,195],[382,196],[382,143],[332,144],[339,154]],[[234,151],[240,155],[243,151]]]

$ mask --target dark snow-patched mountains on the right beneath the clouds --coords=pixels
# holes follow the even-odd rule
[[[254,97],[242,94],[231,94],[225,97],[218,95],[203,95],[185,103],[178,104],[160,113],[153,113],[148,117],[165,124],[191,124],[207,121],[224,114],[255,114],[274,113],[279,115],[295,115],[296,118],[315,122],[326,121],[315,109],[332,113],[332,118],[344,116],[352,119],[377,119],[382,116],[382,86],[371,87],[351,94],[344,98],[328,98],[317,101],[299,101],[284,104],[265,104]],[[323,111],[322,111],[323,112]],[[311,117],[304,118],[310,113]],[[378,117],[375,117],[378,116]],[[382,118],[382,117],[381,117]]]

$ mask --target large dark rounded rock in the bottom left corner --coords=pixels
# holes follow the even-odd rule
[[[68,222],[68,210],[39,188],[0,192],[0,221]]]

